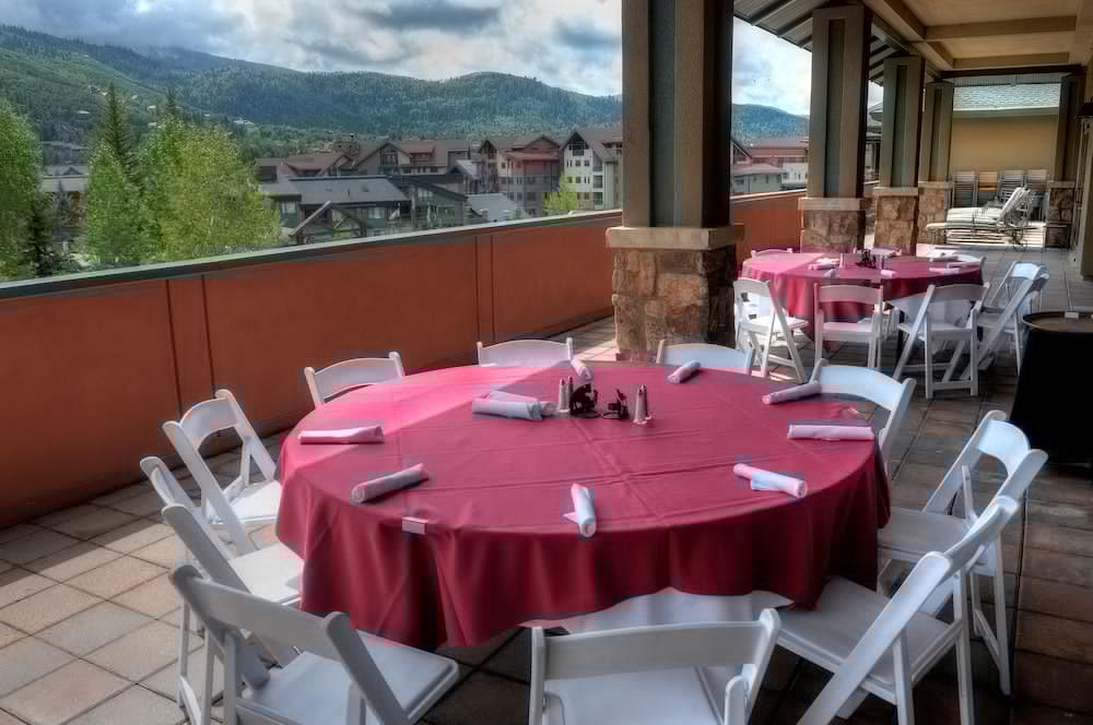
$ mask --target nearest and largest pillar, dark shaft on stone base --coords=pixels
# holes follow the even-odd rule
[[[731,0],[627,0],[623,226],[608,230],[622,359],[732,344]]]

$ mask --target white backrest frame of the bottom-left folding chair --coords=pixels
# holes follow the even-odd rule
[[[410,725],[368,647],[345,614],[334,613],[320,619],[209,581],[193,567],[176,569],[171,574],[171,581],[225,653],[224,681],[235,684],[234,687],[225,686],[225,710],[228,705],[247,710],[246,701],[238,699],[240,681],[255,690],[261,690],[271,681],[256,650],[246,643],[243,635],[246,630],[262,642],[282,642],[340,663],[355,686],[356,691],[350,692],[349,697],[351,704],[354,701],[357,703],[351,712],[356,711],[360,725],[365,725],[367,710],[384,725]],[[381,646],[383,641],[377,639],[376,644]],[[233,667],[230,668],[230,664]]]

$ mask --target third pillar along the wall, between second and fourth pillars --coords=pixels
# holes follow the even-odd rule
[[[873,189],[874,246],[915,253],[918,238],[918,136],[921,127],[920,56],[884,61],[884,118],[880,183]]]

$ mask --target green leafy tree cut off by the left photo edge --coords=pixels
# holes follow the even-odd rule
[[[38,193],[42,148],[27,120],[0,98],[0,278],[22,276],[21,247]]]

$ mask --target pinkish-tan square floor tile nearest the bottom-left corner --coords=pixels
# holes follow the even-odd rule
[[[129,684],[77,659],[15,690],[0,706],[34,725],[60,725],[126,689]]]

